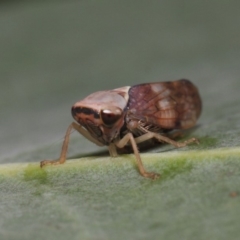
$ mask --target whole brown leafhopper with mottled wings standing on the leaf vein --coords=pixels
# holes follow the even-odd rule
[[[202,103],[197,88],[186,79],[172,82],[144,83],[93,93],[72,106],[76,120],[67,129],[58,160],[44,160],[41,167],[66,161],[69,136],[75,129],[98,146],[107,145],[111,157],[117,149],[130,145],[142,176],[158,178],[142,163],[137,144],[155,139],[175,147],[198,143],[196,138],[184,142],[170,139],[166,133],[188,129],[196,124]]]

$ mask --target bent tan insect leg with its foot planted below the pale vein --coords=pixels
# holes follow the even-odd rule
[[[119,148],[123,148],[128,142],[130,142],[132,145],[133,152],[134,152],[136,160],[137,160],[137,165],[138,165],[140,174],[143,177],[157,179],[159,177],[159,174],[154,173],[154,172],[147,172],[145,170],[142,160],[141,160],[141,157],[140,157],[140,154],[138,152],[137,144],[134,140],[132,133],[127,133],[122,139],[120,139],[118,142],[116,142],[115,145]]]

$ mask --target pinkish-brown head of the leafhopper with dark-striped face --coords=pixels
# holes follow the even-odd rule
[[[72,116],[92,137],[109,145],[124,124],[127,92],[124,87],[91,94],[73,105]]]

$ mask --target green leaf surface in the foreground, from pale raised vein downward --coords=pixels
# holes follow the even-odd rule
[[[240,148],[141,156],[147,169],[161,174],[158,180],[141,177],[133,155],[86,157],[43,169],[37,163],[2,165],[2,237],[17,238],[26,226],[20,234],[26,239],[237,234]]]

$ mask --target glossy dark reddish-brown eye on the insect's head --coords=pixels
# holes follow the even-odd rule
[[[122,110],[120,108],[103,109],[100,112],[103,123],[110,127],[122,117]]]

